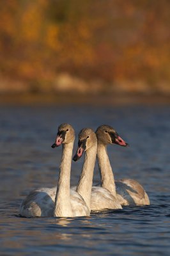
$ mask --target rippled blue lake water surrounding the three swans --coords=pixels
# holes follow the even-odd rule
[[[169,255],[169,106],[1,107],[1,255]],[[61,148],[50,148],[57,127],[112,125],[130,147],[109,145],[116,179],[137,179],[151,205],[81,218],[19,216],[31,189],[56,185]],[[75,148],[77,147],[77,138]],[[72,163],[77,184],[83,159]],[[94,183],[99,175],[95,167]]]

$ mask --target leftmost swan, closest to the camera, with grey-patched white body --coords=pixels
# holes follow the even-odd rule
[[[70,189],[70,170],[72,163],[74,131],[71,125],[58,127],[56,143],[52,148],[63,145],[59,168],[58,187],[39,188],[31,191],[20,205],[20,215],[30,217],[75,217],[89,216],[90,211],[81,195]]]

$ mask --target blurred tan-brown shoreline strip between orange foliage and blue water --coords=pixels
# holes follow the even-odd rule
[[[109,83],[101,78],[87,80],[68,73],[34,83],[0,77],[0,106],[54,104],[170,104],[170,86],[123,79]]]

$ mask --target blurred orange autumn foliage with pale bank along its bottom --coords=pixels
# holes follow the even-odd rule
[[[1,100],[13,93],[167,97],[169,10],[168,0],[1,0]]]

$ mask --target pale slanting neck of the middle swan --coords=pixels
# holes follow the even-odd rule
[[[89,210],[91,209],[90,207],[91,188],[93,184],[93,172],[95,168],[96,157],[97,157],[97,145],[93,145],[93,147],[89,148],[85,152],[81,177],[77,185],[77,193],[79,193],[79,195],[82,196],[82,198],[86,202],[86,205],[88,205]]]

